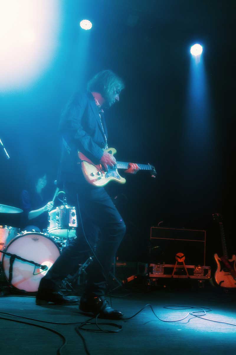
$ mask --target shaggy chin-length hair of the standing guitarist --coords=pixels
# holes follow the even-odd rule
[[[107,100],[116,90],[119,94],[124,89],[122,78],[117,76],[111,70],[102,70],[88,82],[88,91],[99,92]]]

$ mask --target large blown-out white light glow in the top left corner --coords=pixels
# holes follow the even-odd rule
[[[0,91],[35,81],[55,56],[60,24],[57,0],[0,1]]]

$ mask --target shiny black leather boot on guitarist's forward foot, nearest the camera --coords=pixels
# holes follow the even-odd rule
[[[82,312],[93,313],[95,316],[99,314],[100,318],[120,319],[123,313],[114,310],[108,305],[105,296],[83,295],[80,299],[79,309]]]

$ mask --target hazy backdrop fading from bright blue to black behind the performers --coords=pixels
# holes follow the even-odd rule
[[[28,170],[43,165],[51,200],[60,160],[61,110],[74,89],[96,72],[111,69],[125,81],[120,102],[106,112],[108,143],[117,159],[156,166],[107,186],[127,224],[121,260],[147,261],[150,227],[207,230],[207,265],[222,253],[212,213],[224,215],[229,254],[235,253],[234,106],[235,1],[61,1],[60,42],[52,65],[29,90],[1,95],[0,203],[20,207]],[[79,21],[93,27],[82,32]],[[84,36],[84,38],[82,37]],[[85,38],[86,37],[86,38]],[[84,45],[85,42],[86,45]],[[82,45],[83,42],[83,45]],[[207,83],[204,140],[189,128],[190,47],[201,43]],[[194,128],[193,128],[194,132]],[[191,138],[191,139],[190,139]],[[18,215],[0,224],[19,226]]]

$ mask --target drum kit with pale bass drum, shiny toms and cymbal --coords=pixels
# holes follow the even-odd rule
[[[21,213],[22,209],[0,204],[0,213]],[[48,213],[43,233],[20,231],[0,225],[0,273],[7,284],[23,292],[36,292],[39,282],[54,264],[78,226],[75,208],[56,207]]]

